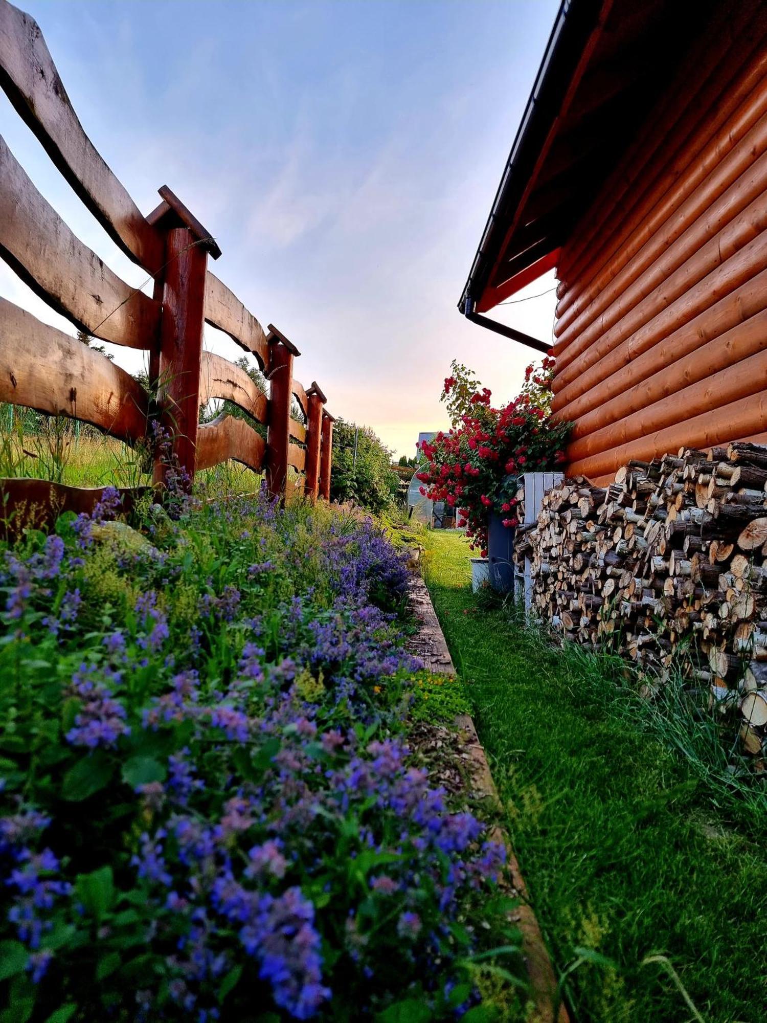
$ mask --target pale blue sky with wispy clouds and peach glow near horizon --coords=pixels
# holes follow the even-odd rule
[[[510,399],[535,354],[456,308],[557,0],[16,0],[143,213],[169,185],[214,272],[301,350],[336,416],[396,455],[446,429],[450,362]],[[0,93],[0,134],[75,233],[124,256]],[[491,314],[551,340],[555,281]],[[0,296],[74,332],[0,264]],[[206,327],[206,347],[243,353]],[[107,346],[130,371],[140,353]]]

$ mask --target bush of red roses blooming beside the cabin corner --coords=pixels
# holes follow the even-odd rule
[[[483,558],[491,514],[502,515],[509,529],[518,525],[518,477],[565,461],[570,424],[552,419],[553,368],[551,358],[538,368],[529,365],[520,394],[499,408],[491,404],[491,391],[455,360],[445,379],[440,400],[452,427],[421,443],[425,464],[416,475],[424,496],[458,509],[458,526],[466,526],[471,549],[479,547]]]

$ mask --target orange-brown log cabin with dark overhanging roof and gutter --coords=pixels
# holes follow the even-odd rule
[[[552,269],[553,346],[487,315]],[[459,308],[551,348],[571,476],[767,442],[767,4],[565,0]]]

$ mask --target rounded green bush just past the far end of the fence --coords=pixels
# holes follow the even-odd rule
[[[354,501],[379,513],[392,504],[398,489],[392,453],[370,427],[337,419],[333,424],[331,500]]]

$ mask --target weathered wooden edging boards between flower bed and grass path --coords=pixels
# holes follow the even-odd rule
[[[423,661],[427,671],[455,675],[455,666],[428,589],[415,572],[411,572],[408,590],[410,606],[418,619],[418,631],[408,644],[410,650]],[[460,714],[455,723],[462,736],[473,793],[493,807],[495,812],[500,813],[501,802],[475,723],[468,714]],[[522,934],[525,966],[535,1006],[531,1023],[569,1023],[568,1012],[559,1000],[554,969],[508,836],[496,824],[490,830],[488,838],[493,842],[502,842],[506,847],[508,877],[501,882],[501,886],[520,899],[518,905],[509,913],[509,920],[518,927]]]

